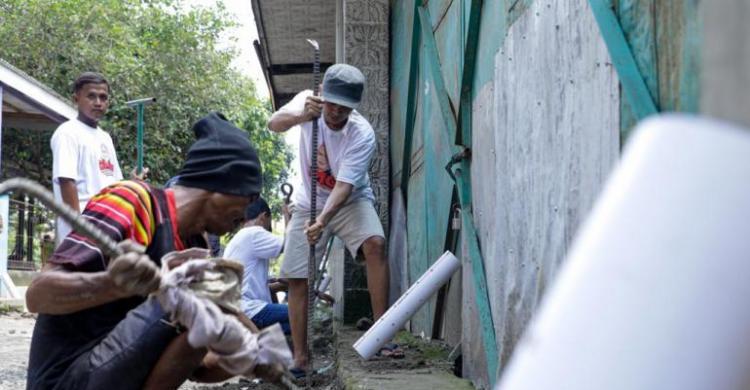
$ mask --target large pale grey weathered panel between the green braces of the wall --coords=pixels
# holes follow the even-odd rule
[[[495,132],[491,146],[490,136],[473,137],[474,161],[494,156],[495,165],[472,164],[472,177],[496,182],[494,194],[474,183],[472,206],[492,259],[485,267],[501,367],[619,154],[620,89],[596,31],[586,0],[535,1],[496,58],[492,107],[484,96],[474,103],[475,131]]]

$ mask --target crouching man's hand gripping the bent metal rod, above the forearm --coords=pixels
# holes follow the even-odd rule
[[[159,288],[159,267],[145,254],[146,248],[131,240],[117,245],[122,255],[110,260],[107,273],[124,296],[147,296]]]

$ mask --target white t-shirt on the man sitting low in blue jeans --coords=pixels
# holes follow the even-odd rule
[[[278,257],[283,239],[260,226],[241,229],[224,249],[224,258],[241,262],[245,266],[242,278],[242,311],[253,318],[271,303],[268,290],[268,263]]]

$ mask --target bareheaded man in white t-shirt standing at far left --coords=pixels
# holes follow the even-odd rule
[[[55,199],[79,213],[99,190],[122,180],[112,138],[97,127],[109,108],[109,94],[109,83],[104,76],[82,73],[73,84],[78,117],[60,125],[50,141]],[[144,175],[145,172],[144,169]],[[70,230],[70,225],[57,219],[58,245]]]

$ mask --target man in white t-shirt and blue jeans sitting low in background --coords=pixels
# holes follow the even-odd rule
[[[258,328],[278,323],[284,333],[289,334],[287,305],[271,300],[271,290],[279,290],[282,286],[268,284],[268,264],[279,256],[283,246],[283,239],[271,234],[271,209],[265,200],[259,198],[245,210],[245,225],[229,241],[223,257],[245,266],[242,280],[242,311],[245,315]]]

